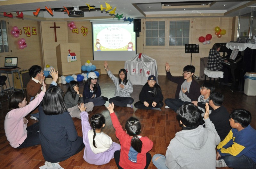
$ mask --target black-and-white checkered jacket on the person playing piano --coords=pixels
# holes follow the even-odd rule
[[[214,49],[210,49],[208,56],[207,69],[208,70],[221,70],[223,68],[222,63],[224,58],[220,56],[220,53]]]

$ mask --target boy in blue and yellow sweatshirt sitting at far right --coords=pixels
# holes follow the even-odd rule
[[[256,130],[250,126],[251,120],[251,113],[245,109],[230,114],[232,129],[217,146],[216,167],[256,168]]]

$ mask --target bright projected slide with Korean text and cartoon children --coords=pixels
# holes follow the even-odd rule
[[[94,24],[93,43],[94,51],[134,51],[133,24]]]

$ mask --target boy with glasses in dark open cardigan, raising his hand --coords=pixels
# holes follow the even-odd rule
[[[165,108],[171,108],[173,111],[177,111],[180,106],[186,103],[191,103],[196,101],[200,96],[200,86],[192,78],[195,73],[196,68],[192,65],[187,65],[183,68],[183,77],[173,77],[170,73],[169,63],[165,63],[166,76],[169,81],[177,83],[177,89],[175,93],[175,98],[165,99]]]

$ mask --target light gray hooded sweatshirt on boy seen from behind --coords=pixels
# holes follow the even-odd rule
[[[216,145],[220,137],[212,121],[204,119],[205,128],[182,130],[175,134],[166,151],[165,165],[171,168],[212,169],[215,168]]]

